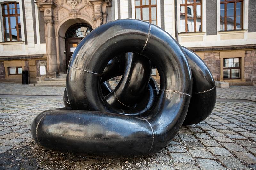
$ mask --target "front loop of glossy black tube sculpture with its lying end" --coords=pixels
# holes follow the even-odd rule
[[[140,102],[129,110],[118,109],[102,94],[105,66],[111,56],[125,52],[147,57],[158,69],[158,97],[158,86],[148,76],[149,97],[141,99],[145,107],[156,100],[150,109],[143,111]],[[167,32],[148,22],[125,19],[97,27],[80,42],[66,85],[72,109],[46,110],[35,118],[31,133],[38,144],[88,156],[145,156],[161,150],[177,134],[188,111],[192,74],[183,50]]]

